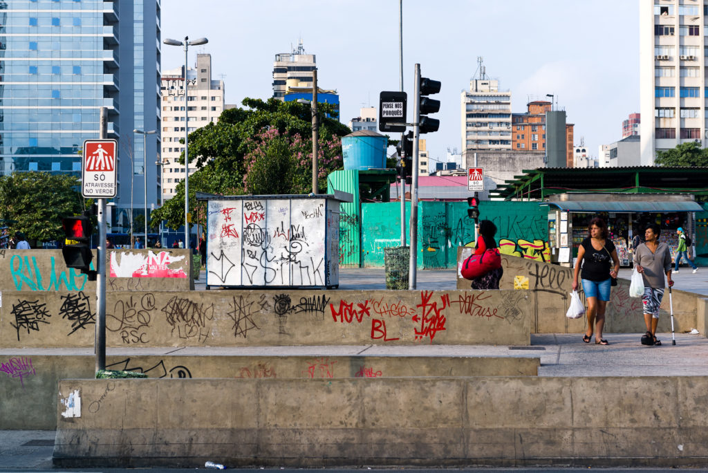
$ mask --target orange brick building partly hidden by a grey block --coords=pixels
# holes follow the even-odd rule
[[[511,115],[511,149],[514,151],[546,150],[546,112],[552,110],[548,101],[526,104],[526,113]],[[573,127],[566,123],[566,166],[573,167]]]

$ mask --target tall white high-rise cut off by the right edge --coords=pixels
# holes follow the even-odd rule
[[[641,165],[683,142],[705,142],[705,0],[639,2]]]

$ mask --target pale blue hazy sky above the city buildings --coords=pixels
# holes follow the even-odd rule
[[[321,89],[336,89],[340,121],[378,110],[379,92],[399,90],[398,0],[162,0],[162,38],[207,37],[190,48],[212,55],[226,102],[273,96],[273,60],[302,39],[316,55]],[[412,120],[413,67],[442,82],[440,130],[428,140],[431,161],[462,149],[460,94],[477,57],[512,93],[514,113],[553,94],[575,143],[592,156],[622,138],[622,120],[639,112],[639,4],[636,0],[404,0],[404,90]],[[162,45],[163,70],[184,63],[181,47]],[[223,75],[222,75],[223,74]]]

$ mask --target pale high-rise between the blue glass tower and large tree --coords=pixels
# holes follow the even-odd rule
[[[212,56],[198,54],[195,69],[187,70],[188,94],[185,102],[184,67],[163,72],[161,84],[162,123],[162,186],[163,198],[172,198],[177,183],[184,180],[184,166],[179,156],[184,152],[185,132],[193,132],[208,123],[217,122],[224,111],[224,81],[212,79]],[[188,122],[185,122],[185,113]],[[187,129],[185,131],[185,128]],[[189,156],[190,175],[197,169],[191,164],[196,156]]]

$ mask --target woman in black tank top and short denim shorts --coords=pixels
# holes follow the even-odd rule
[[[573,273],[573,290],[578,290],[578,273],[588,301],[588,329],[583,341],[590,343],[595,334],[595,344],[609,345],[603,338],[605,309],[610,300],[612,278],[619,273],[619,258],[612,240],[607,238],[607,224],[600,217],[590,220],[588,236],[578,247],[578,261]],[[581,271],[582,269],[582,271]]]

